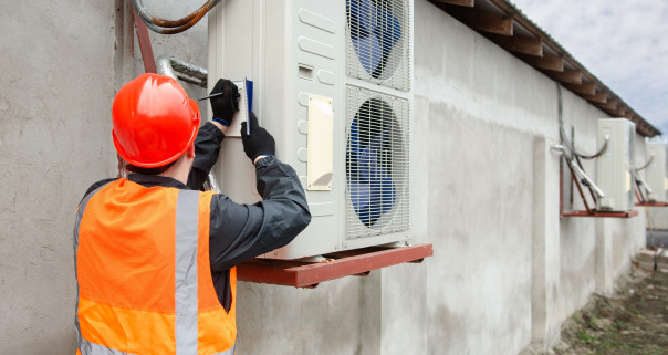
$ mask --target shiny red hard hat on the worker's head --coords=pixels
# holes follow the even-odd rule
[[[195,142],[199,107],[174,79],[142,74],[125,84],[112,106],[114,145],[129,164],[144,168],[178,159]]]

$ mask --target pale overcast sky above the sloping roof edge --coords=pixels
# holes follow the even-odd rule
[[[511,0],[668,137],[668,0]]]

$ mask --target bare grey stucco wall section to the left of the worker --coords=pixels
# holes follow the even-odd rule
[[[2,4],[2,354],[74,348],[74,212],[114,174],[114,12],[113,1]]]

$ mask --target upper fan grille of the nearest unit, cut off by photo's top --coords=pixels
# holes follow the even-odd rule
[[[407,92],[410,8],[406,0],[346,1],[346,73]]]

